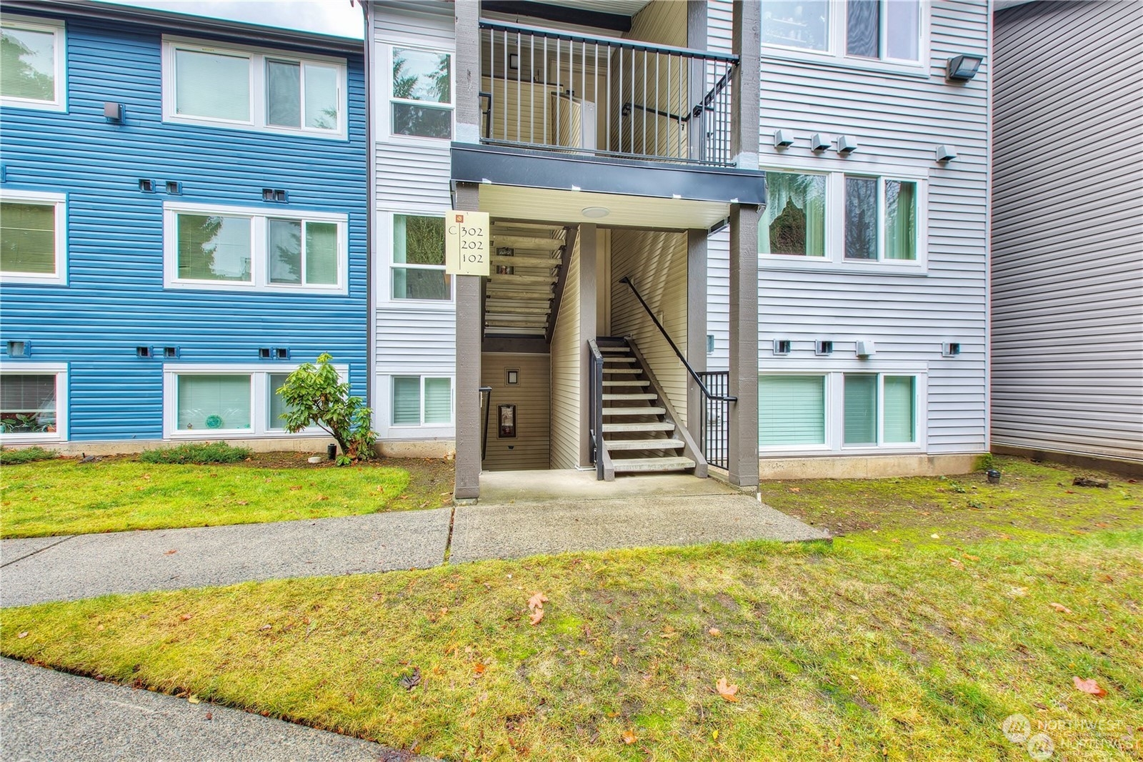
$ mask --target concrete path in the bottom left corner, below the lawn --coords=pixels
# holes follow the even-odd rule
[[[3,759],[413,762],[377,744],[0,659]]]

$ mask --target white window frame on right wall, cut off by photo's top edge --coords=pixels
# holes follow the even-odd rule
[[[887,1],[893,0],[881,0],[884,6]],[[852,56],[846,53],[846,32],[847,32],[847,10],[848,2],[842,2],[839,0],[829,0],[829,17],[826,19],[826,39],[829,45],[825,50],[810,50],[807,48],[799,48],[794,46],[786,45],[775,45],[772,42],[762,43],[762,57],[764,58],[784,58],[793,61],[804,61],[807,63],[825,64],[829,66],[841,66],[845,69],[862,69],[866,71],[890,73],[890,74],[908,74],[911,77],[932,77],[929,72],[929,47],[930,47],[930,10],[932,3],[929,0],[919,0],[919,7],[917,9],[918,19],[917,23],[920,26],[918,30],[920,33],[920,39],[918,40],[917,47],[917,61],[906,61],[901,58],[869,58],[865,56]],[[886,13],[880,13],[880,30],[879,45],[884,48],[887,37],[887,18]],[[765,21],[762,22],[765,24]]]

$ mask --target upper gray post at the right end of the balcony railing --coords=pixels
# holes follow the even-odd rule
[[[757,0],[735,0],[730,45],[741,63],[730,82],[734,104],[730,113],[730,148],[740,169],[758,168],[761,34],[761,3]]]

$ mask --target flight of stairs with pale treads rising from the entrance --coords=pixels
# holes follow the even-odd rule
[[[615,474],[692,471],[706,476],[706,460],[634,341],[618,336],[596,340],[602,359],[602,431],[597,465],[605,479]]]

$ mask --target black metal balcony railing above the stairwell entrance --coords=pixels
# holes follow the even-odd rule
[[[480,22],[483,142],[730,166],[737,56]]]

